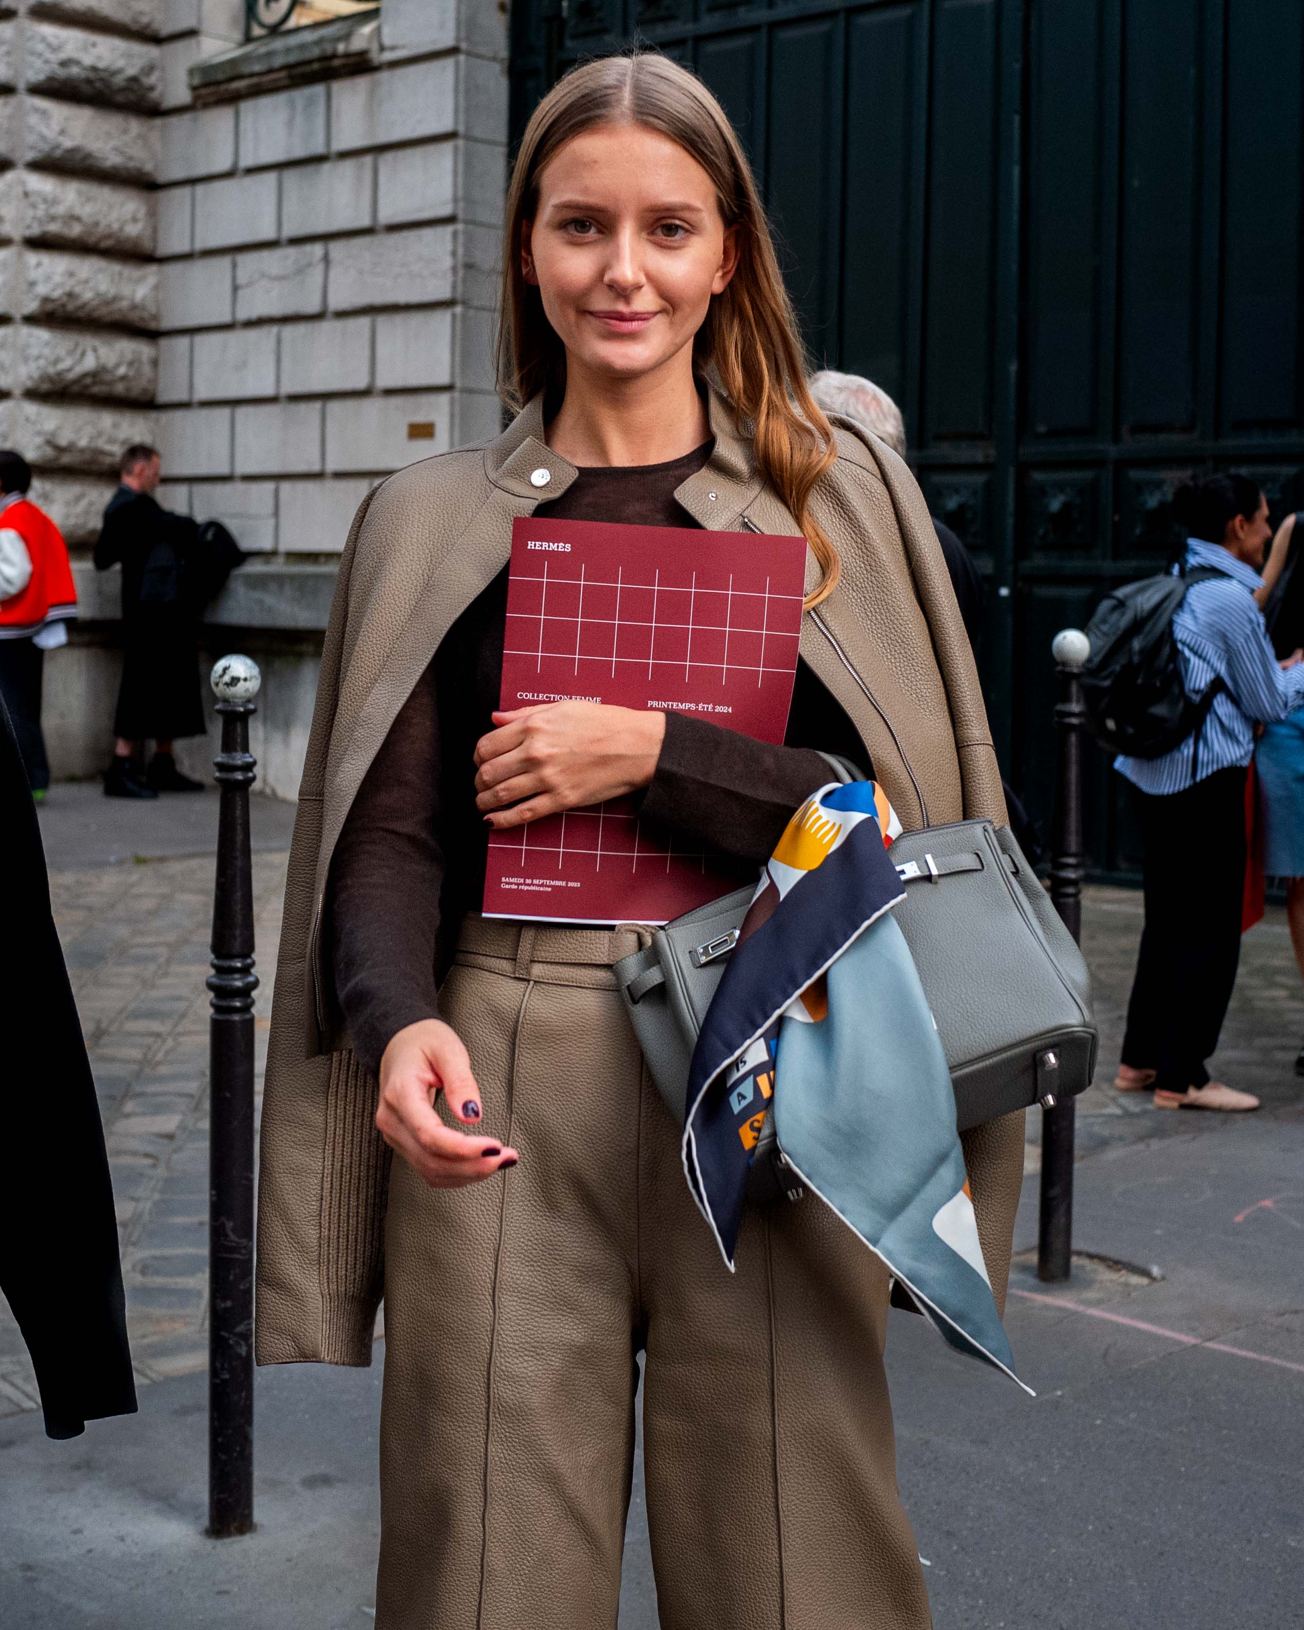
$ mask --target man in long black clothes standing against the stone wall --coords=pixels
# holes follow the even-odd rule
[[[129,447],[119,469],[122,484],[109,499],[95,544],[101,572],[122,566],[122,685],[104,794],[153,799],[160,792],[200,792],[204,784],[176,768],[173,742],[207,730],[199,696],[199,623],[243,554],[225,526],[209,522],[200,528],[189,515],[163,509],[153,496],[163,474],[156,448]],[[148,769],[145,742],[155,743]]]

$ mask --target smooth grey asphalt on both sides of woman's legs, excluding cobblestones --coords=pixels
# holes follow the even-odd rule
[[[1079,1165],[1082,1242],[1165,1278],[1024,1262],[1006,1325],[1030,1400],[910,1314],[888,1372],[936,1630],[1301,1622],[1304,1112]],[[1267,1201],[1271,1201],[1268,1205]],[[1019,1240],[1035,1231],[1025,1180]],[[49,1443],[0,1423],[5,1630],[365,1630],[380,1366],[259,1371],[258,1532],[204,1526],[204,1377]],[[641,1469],[619,1630],[657,1630]],[[706,1627],[704,1627],[706,1630]]]

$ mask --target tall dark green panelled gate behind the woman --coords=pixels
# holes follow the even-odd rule
[[[738,127],[815,359],[901,404],[1048,817],[1051,636],[1159,569],[1174,486],[1234,466],[1304,505],[1301,0],[513,0],[513,135],[634,44]],[[1089,787],[1094,866],[1133,869],[1099,755]]]

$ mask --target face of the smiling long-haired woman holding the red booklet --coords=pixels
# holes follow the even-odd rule
[[[611,380],[678,355],[737,264],[703,166],[642,126],[572,137],[540,171],[522,267],[574,368]]]

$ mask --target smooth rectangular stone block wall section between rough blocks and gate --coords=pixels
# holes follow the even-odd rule
[[[293,83],[202,62],[200,106],[163,121],[168,491],[267,564],[339,551],[372,482],[500,422],[504,24],[494,0],[385,0],[300,31],[331,54]]]

